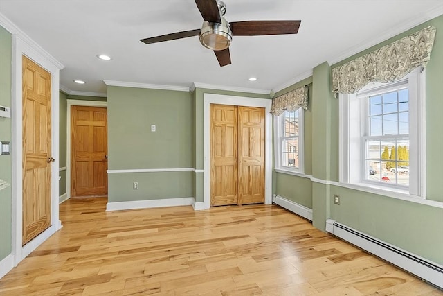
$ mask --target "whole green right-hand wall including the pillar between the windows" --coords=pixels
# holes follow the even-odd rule
[[[338,186],[338,100],[332,96],[330,89],[330,76],[334,67],[430,25],[437,28],[437,35],[431,61],[426,67],[426,199],[443,202],[443,16],[372,46],[331,67],[323,63],[314,68],[312,96],[309,97],[311,114],[305,118],[305,124],[311,121],[311,147],[305,145],[305,150],[311,150],[311,172],[313,180],[317,182],[307,182],[307,178],[276,173],[275,193],[306,207],[309,207],[309,200],[305,195],[311,193],[313,225],[319,229],[325,229],[325,220],[332,218],[443,264],[441,207]],[[305,130],[305,137],[307,133]],[[340,205],[334,204],[334,194],[340,196]]]

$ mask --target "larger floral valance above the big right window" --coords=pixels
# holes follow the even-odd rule
[[[428,26],[332,69],[332,92],[354,94],[369,82],[394,82],[419,66],[426,67],[435,31]]]

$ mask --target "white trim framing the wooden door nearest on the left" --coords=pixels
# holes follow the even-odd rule
[[[62,227],[59,220],[59,81],[60,69],[63,65],[44,51],[33,40],[24,35],[19,29],[12,35],[12,142],[21,143],[23,123],[22,119],[22,55],[39,64],[51,73],[51,227],[22,247],[22,146],[15,146],[12,154],[12,254],[14,264],[24,259],[33,246],[37,247],[46,238]],[[29,252],[28,252],[29,251]]]

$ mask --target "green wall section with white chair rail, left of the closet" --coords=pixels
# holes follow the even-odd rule
[[[190,92],[108,87],[107,95],[109,170],[193,168]],[[109,202],[194,194],[191,171],[109,173],[108,180]]]

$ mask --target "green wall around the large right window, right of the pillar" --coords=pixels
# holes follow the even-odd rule
[[[429,25],[437,28],[437,35],[426,68],[426,199],[443,202],[443,15],[377,48]],[[443,264],[442,208],[338,186],[331,187],[333,194],[340,195],[341,203],[336,205],[330,198],[332,219]]]

